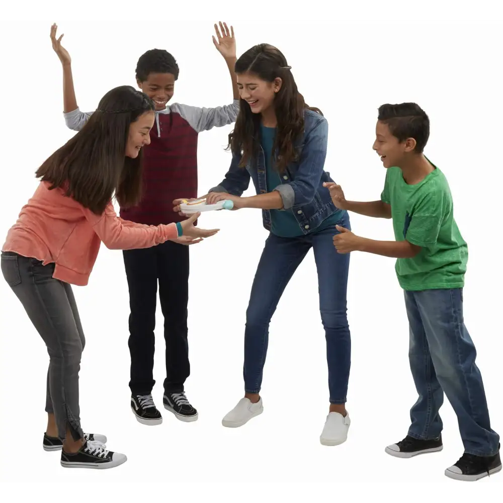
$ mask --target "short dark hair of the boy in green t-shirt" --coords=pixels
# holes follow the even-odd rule
[[[379,107],[378,120],[387,124],[391,134],[398,141],[415,139],[415,151],[423,153],[430,137],[430,119],[416,103],[386,103]]]

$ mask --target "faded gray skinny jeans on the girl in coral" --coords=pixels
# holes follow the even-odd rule
[[[54,413],[58,436],[66,426],[74,440],[83,437],[78,404],[78,373],[85,346],[75,298],[68,283],[52,277],[54,264],[2,252],[2,274],[42,337],[49,353],[45,410]]]

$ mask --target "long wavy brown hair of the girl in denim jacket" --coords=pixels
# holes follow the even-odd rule
[[[323,114],[319,109],[306,105],[285,56],[272,45],[260,44],[248,49],[236,61],[234,71],[254,73],[267,82],[274,82],[277,77],[282,80],[281,89],[274,98],[278,121],[274,149],[278,149],[276,169],[280,173],[284,172],[290,162],[298,160],[299,152],[295,149],[295,144],[304,133],[305,109]],[[239,100],[239,114],[234,130],[229,134],[227,148],[235,153],[242,151],[239,163],[241,167],[258,150],[260,122],[261,114],[254,114],[245,100]]]

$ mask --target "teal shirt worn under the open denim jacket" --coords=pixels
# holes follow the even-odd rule
[[[261,125],[261,145],[264,150],[266,163],[266,179],[267,192],[273,192],[278,185],[281,185],[280,174],[275,170],[272,161],[272,152],[274,140],[276,136],[276,128],[265,127]],[[271,232],[279,237],[298,237],[303,236],[302,232],[293,211],[290,210],[270,210],[271,211]],[[321,225],[314,229],[313,232],[319,232],[330,226],[335,226],[341,219],[341,212],[336,211],[328,218],[323,220]]]

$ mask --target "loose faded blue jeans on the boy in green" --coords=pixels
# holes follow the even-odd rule
[[[465,452],[493,456],[499,435],[491,430],[476,350],[463,320],[463,291],[405,292],[410,326],[409,361],[419,397],[410,410],[408,434],[437,438],[444,393],[459,425]]]

